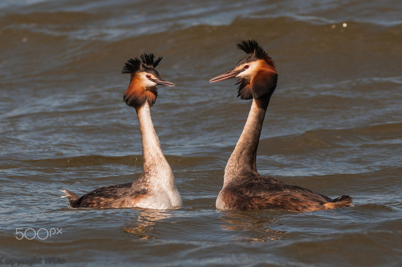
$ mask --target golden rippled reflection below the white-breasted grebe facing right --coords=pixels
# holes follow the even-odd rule
[[[164,210],[158,209],[139,209],[137,220],[129,224],[123,230],[127,233],[135,234],[139,239],[154,239],[156,236],[150,234],[157,222],[162,222],[172,215]]]

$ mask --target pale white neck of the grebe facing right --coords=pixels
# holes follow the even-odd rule
[[[144,105],[137,108],[136,111],[141,129],[142,154],[144,157],[144,170],[140,179],[145,179],[152,186],[175,189],[172,169],[160,147],[159,138],[152,123],[148,101],[145,101]]]

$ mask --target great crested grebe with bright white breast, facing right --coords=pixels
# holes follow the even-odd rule
[[[137,111],[144,157],[142,174],[134,182],[100,187],[82,197],[62,190],[66,193],[63,197],[68,198],[71,207],[169,209],[183,205],[174,184],[172,169],[160,148],[150,113],[150,107],[158,96],[156,85],[174,86],[173,83],[162,80],[155,70],[161,60],[162,57],[155,60],[154,54],[144,53],[141,60],[130,58],[121,72],[131,74],[123,100]]]

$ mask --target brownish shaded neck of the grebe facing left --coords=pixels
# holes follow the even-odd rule
[[[249,175],[258,175],[256,168],[257,148],[268,104],[269,97],[253,99],[246,125],[244,125],[243,132],[228,160],[228,164],[226,164],[224,187],[230,183],[241,182]]]

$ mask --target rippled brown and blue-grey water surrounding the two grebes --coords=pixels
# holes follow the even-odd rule
[[[0,263],[402,266],[401,34],[400,0],[0,1]],[[355,207],[215,209],[251,102],[234,80],[208,80],[244,56],[243,39],[279,73],[259,172]],[[184,206],[70,209],[59,190],[142,171],[120,71],[144,52],[176,84],[160,86],[151,113]],[[62,234],[17,240],[16,228]]]

